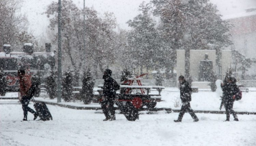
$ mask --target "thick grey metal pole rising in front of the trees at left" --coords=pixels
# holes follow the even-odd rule
[[[59,0],[58,11],[58,81],[57,81],[57,103],[61,102],[61,0]]]

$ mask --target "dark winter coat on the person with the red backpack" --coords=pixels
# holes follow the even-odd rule
[[[223,91],[223,98],[226,101],[234,101],[235,99],[233,99],[233,96],[239,91],[236,83],[225,83],[221,87]]]

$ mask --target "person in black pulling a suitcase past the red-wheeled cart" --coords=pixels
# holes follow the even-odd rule
[[[101,102],[101,108],[103,110],[103,113],[106,117],[103,121],[114,121],[116,120],[115,116],[115,110],[114,110],[114,97],[116,95],[116,90],[120,89],[119,84],[111,78],[112,71],[109,69],[106,69],[104,71],[103,79],[104,79],[104,85],[103,85],[103,100]],[[109,112],[111,116],[109,115]]]

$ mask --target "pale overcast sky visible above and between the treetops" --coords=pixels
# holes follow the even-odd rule
[[[31,29],[35,36],[42,35],[49,24],[45,12],[47,5],[53,0],[24,0],[22,4],[21,13],[28,16],[30,22],[29,29]],[[58,0],[54,0],[58,1]],[[83,8],[83,0],[73,0],[74,3]],[[145,1],[149,3],[150,0],[85,0],[86,7],[94,7],[101,16],[104,12],[113,12],[117,18],[117,23],[122,29],[129,29],[126,22],[138,15],[139,4]],[[186,0],[184,0],[186,1]],[[210,0],[211,3],[216,4],[221,15],[234,15],[244,12],[248,8],[256,8],[256,0]]]

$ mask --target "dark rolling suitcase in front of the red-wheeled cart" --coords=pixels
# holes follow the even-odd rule
[[[124,114],[125,118],[128,121],[135,121],[139,119],[139,111],[135,108],[131,102],[129,101],[122,101],[119,102],[118,99],[115,97],[116,104],[119,110]]]

